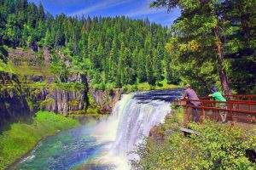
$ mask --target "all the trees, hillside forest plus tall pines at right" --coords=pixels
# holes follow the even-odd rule
[[[200,2],[151,3],[167,11],[181,9],[181,16],[168,29],[125,16],[54,17],[42,3],[3,0],[1,43],[38,53],[49,48],[53,54],[49,70],[58,82],[80,71],[101,89],[164,81],[189,82],[201,94],[212,86],[225,94],[255,93],[255,3]],[[65,57],[55,55],[57,50]]]

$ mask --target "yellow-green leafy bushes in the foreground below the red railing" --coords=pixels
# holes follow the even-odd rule
[[[256,131],[206,121],[190,124],[199,135],[189,138],[174,132],[162,144],[152,139],[138,146],[139,161],[131,161],[133,169],[255,169],[255,162],[246,157],[247,149],[256,148]]]

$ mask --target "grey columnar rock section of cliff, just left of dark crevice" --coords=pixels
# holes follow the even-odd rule
[[[27,91],[37,110],[52,111],[67,115],[70,111],[84,111],[89,104],[87,79],[76,74],[73,82],[33,83]],[[38,85],[38,86],[37,86]]]

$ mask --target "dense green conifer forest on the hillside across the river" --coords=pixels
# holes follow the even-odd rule
[[[49,66],[59,82],[66,82],[73,71],[86,73],[101,89],[139,82],[155,85],[164,79],[178,82],[165,49],[171,34],[148,19],[53,17],[42,3],[37,7],[26,0],[1,1],[0,17],[0,36],[9,48],[61,50],[65,58],[53,53]]]

